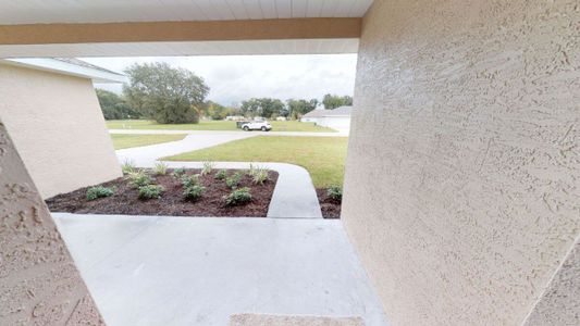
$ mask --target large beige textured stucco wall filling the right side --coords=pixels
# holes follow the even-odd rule
[[[579,36],[577,0],[374,1],[343,221],[393,325],[539,309],[580,230]]]

